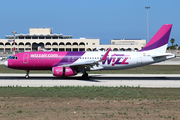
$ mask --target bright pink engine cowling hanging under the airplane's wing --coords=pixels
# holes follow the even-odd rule
[[[52,72],[54,76],[68,77],[76,75],[76,71],[70,67],[53,67]]]

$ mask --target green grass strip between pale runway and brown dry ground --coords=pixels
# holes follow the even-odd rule
[[[0,97],[60,97],[80,99],[180,99],[180,88],[140,87],[96,87],[96,86],[55,86],[55,87],[0,87]]]

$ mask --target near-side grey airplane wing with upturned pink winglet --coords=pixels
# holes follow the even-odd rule
[[[66,64],[66,65],[63,65],[63,67],[89,67],[92,69],[93,68],[94,69],[102,69],[103,67],[99,66],[99,62],[103,62],[104,60],[106,60],[110,50],[111,50],[111,48],[108,49],[108,51],[104,54],[104,56],[100,60],[89,60],[89,61],[85,61],[85,62]]]

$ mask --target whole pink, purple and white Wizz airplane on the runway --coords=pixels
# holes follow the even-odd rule
[[[30,70],[52,70],[57,77],[74,76],[87,71],[120,70],[134,68],[175,58],[166,53],[172,24],[164,24],[144,48],[139,51],[30,51],[13,55],[4,65],[12,69],[26,70],[29,78]]]

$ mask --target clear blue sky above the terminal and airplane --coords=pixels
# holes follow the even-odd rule
[[[0,0],[0,38],[53,28],[74,39],[149,39],[163,24],[173,24],[170,39],[180,46],[180,0]],[[171,45],[169,42],[168,45]]]

